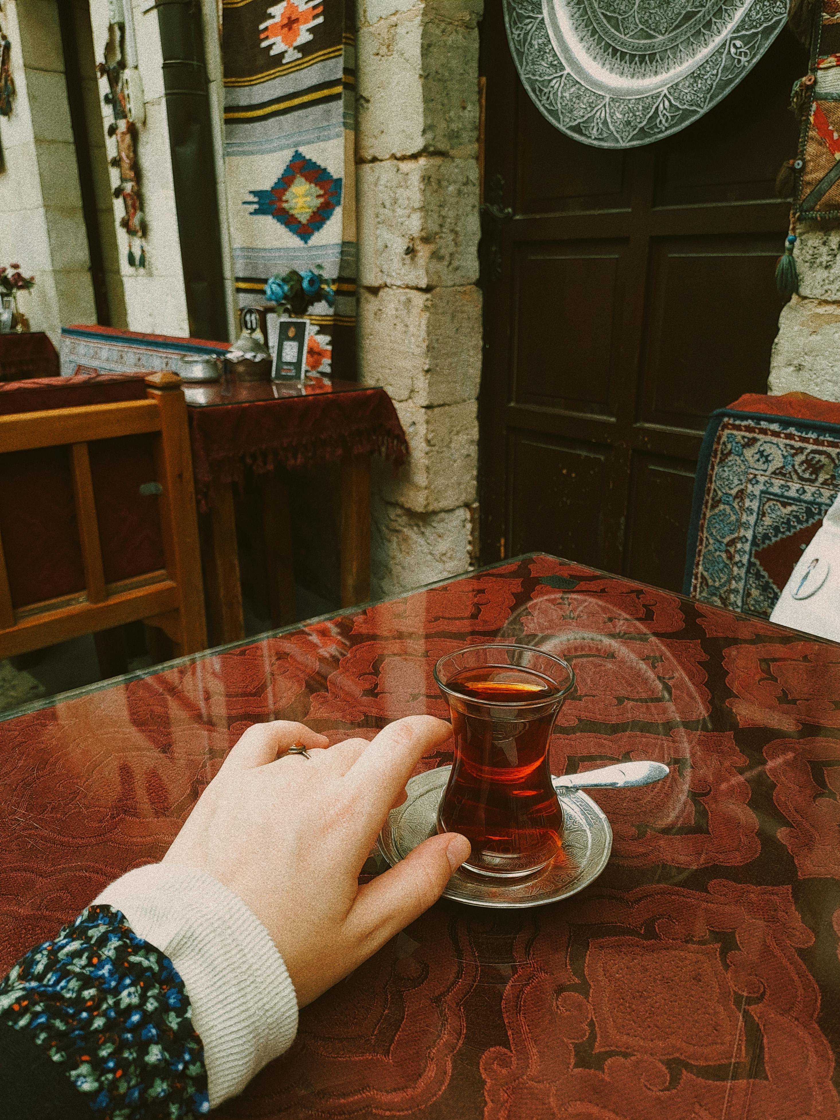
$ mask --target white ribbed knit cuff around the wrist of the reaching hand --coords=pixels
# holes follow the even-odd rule
[[[150,864],[94,899],[121,911],[138,937],[169,958],[204,1044],[211,1108],[242,1092],[291,1046],[298,1001],[265,926],[207,871]]]

